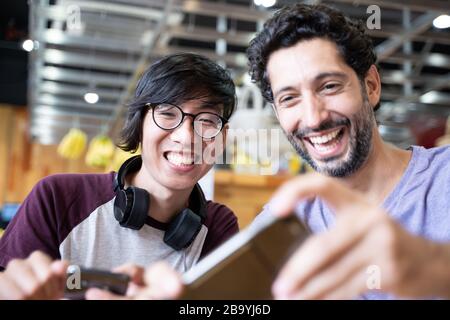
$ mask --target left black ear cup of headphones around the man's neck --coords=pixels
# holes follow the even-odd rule
[[[141,188],[129,187],[125,190],[127,198],[127,212],[121,223],[123,227],[139,230],[145,224],[148,215],[150,196]]]

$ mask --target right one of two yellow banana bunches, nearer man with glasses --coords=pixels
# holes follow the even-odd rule
[[[89,143],[86,164],[91,167],[106,167],[110,164],[115,149],[114,143],[108,136],[104,134],[95,136]]]

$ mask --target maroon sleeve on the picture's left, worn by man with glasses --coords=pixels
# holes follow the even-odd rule
[[[0,238],[0,267],[40,250],[60,258],[59,245],[99,204],[111,199],[113,174],[58,174],[39,181]]]

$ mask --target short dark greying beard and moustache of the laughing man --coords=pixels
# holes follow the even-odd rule
[[[331,177],[343,178],[358,171],[358,169],[366,162],[371,150],[375,115],[366,97],[364,97],[363,106],[360,111],[354,114],[351,119],[347,118],[339,122],[327,122],[314,131],[331,129],[344,123],[347,125],[347,129],[349,129],[349,154],[347,159],[339,160],[335,157],[331,157],[322,160],[321,162],[324,164],[320,165],[309,155],[302,140],[304,135],[302,130],[290,134],[285,132],[285,134],[297,153],[315,171]]]

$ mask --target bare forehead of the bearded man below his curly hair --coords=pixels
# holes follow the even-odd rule
[[[274,92],[279,87],[313,80],[321,73],[354,74],[336,44],[319,38],[303,40],[273,52],[269,57],[267,71]]]

